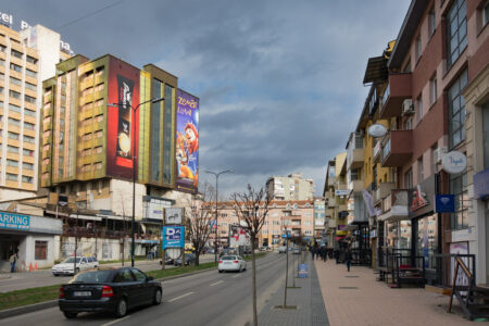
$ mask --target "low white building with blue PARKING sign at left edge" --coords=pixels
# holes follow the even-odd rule
[[[62,233],[61,220],[0,212],[0,271],[10,271],[13,253],[17,254],[15,271],[53,265]]]

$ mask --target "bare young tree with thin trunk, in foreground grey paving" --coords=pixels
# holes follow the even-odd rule
[[[252,265],[252,288],[253,288],[253,325],[258,326],[256,312],[256,260],[254,250],[258,247],[258,237],[262,229],[265,218],[268,215],[268,205],[271,198],[264,188],[255,190],[250,184],[243,192],[235,192],[231,195],[235,212],[239,222],[244,223],[251,238],[251,265]],[[240,223],[241,224],[241,223]]]

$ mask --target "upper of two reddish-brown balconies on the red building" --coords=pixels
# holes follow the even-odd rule
[[[390,74],[389,85],[383,97],[380,118],[400,116],[402,101],[411,97],[411,73]]]

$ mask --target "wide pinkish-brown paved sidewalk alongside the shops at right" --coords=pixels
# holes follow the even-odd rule
[[[474,325],[465,319],[456,299],[419,288],[391,289],[376,281],[374,269],[334,260],[315,261],[323,299],[331,326],[346,325]]]

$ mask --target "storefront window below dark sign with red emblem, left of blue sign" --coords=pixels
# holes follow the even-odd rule
[[[422,217],[417,221],[416,256],[425,258],[425,268],[435,269],[437,265],[438,225],[436,215]],[[421,267],[421,261],[416,260]]]

